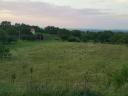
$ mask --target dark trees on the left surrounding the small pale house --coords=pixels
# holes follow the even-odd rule
[[[35,34],[32,34],[31,28],[34,28],[37,34],[42,32],[42,29],[38,26],[30,26],[27,24],[15,23],[11,24],[9,21],[3,21],[0,24],[0,39],[6,42],[12,42],[17,40],[34,40]]]

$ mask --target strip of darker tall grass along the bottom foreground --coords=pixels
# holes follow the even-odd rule
[[[46,85],[26,85],[24,91],[17,90],[14,85],[0,84],[0,96],[102,96],[101,93],[90,89],[77,87],[48,87]]]

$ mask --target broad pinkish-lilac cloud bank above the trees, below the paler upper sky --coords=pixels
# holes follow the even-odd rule
[[[123,15],[113,15],[106,9],[76,9],[70,6],[56,6],[30,1],[0,1],[0,19],[40,26],[55,25],[59,27],[100,29],[126,28],[126,24],[128,24],[126,17],[124,19]]]

